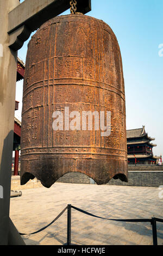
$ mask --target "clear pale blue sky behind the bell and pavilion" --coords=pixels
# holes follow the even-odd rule
[[[92,11],[87,13],[106,22],[117,37],[123,63],[127,129],[145,125],[148,135],[155,138],[155,155],[163,155],[163,57],[159,56],[159,45],[163,44],[162,13],[163,0],[92,0]],[[70,14],[70,10],[63,14]],[[28,41],[18,51],[24,62]],[[19,119],[22,87],[23,82],[17,82],[20,110],[15,115]]]

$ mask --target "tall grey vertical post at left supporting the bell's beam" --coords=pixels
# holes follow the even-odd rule
[[[8,47],[8,13],[18,4],[19,0],[0,0],[0,245],[8,244],[17,67],[17,52]]]

